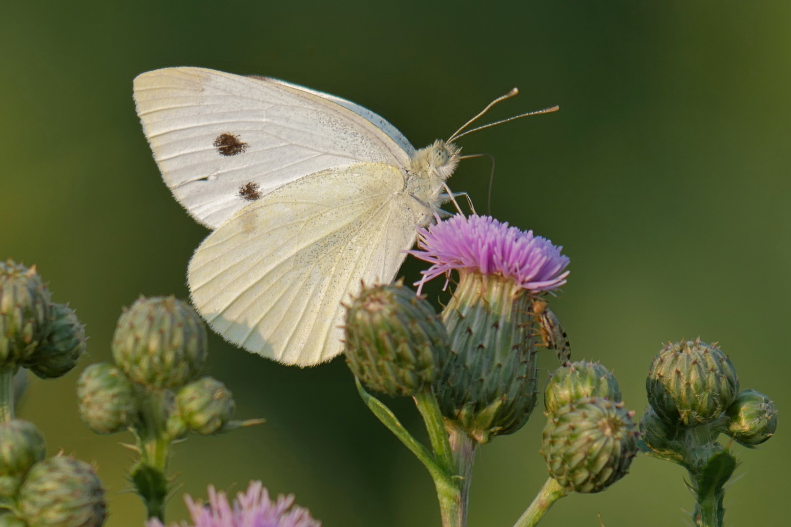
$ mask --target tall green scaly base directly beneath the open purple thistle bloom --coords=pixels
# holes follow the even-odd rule
[[[531,303],[513,278],[462,272],[442,312],[451,352],[434,384],[437,401],[479,443],[513,434],[536,408],[539,337]]]

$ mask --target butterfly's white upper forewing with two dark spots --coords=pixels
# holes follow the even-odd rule
[[[281,81],[166,68],[135,78],[134,100],[165,183],[210,228],[248,205],[246,188],[358,162],[406,169],[414,152],[373,112]]]

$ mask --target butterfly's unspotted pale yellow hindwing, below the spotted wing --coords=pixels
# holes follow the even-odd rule
[[[229,341],[302,366],[343,351],[342,301],[395,277],[430,211],[388,164],[305,176],[253,201],[195,252],[189,283]]]

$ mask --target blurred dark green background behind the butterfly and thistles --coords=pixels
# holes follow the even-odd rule
[[[187,297],[206,236],[161,182],[134,114],[131,81],[163,66],[257,73],[377,111],[421,147],[489,100],[492,115],[561,111],[461,141],[497,156],[493,213],[565,247],[572,270],[553,307],[577,358],[615,370],[630,408],[660,341],[720,341],[744,388],[777,402],[777,437],[736,446],[744,477],[729,525],[782,525],[791,491],[791,2],[12,2],[0,0],[0,258],[39,265],[54,299],[109,359],[122,306]],[[784,146],[785,145],[785,146]],[[485,209],[489,165],[451,180]],[[407,262],[408,280],[421,265]],[[437,280],[440,281],[440,280]],[[440,284],[437,284],[437,286]],[[437,288],[431,292],[437,298]],[[214,336],[208,373],[261,427],[193,436],[172,468],[205,495],[261,479],[327,527],[435,527],[430,477],[359,401],[342,359],[299,370]],[[554,358],[542,359],[551,367]],[[546,375],[544,373],[544,375]],[[97,461],[112,527],[138,526],[124,492],[123,435],[76,414],[78,371],[32,382],[21,415],[49,451]],[[410,401],[391,401],[413,430]],[[546,477],[540,412],[479,449],[470,526],[509,527]],[[682,469],[638,457],[600,495],[559,502],[542,525],[685,525]],[[168,508],[184,518],[180,498]],[[787,514],[786,514],[787,516]],[[787,520],[786,520],[787,521]]]

